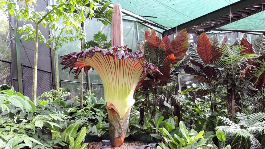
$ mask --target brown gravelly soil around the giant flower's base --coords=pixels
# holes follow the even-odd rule
[[[94,147],[98,146],[98,147],[101,147],[101,141],[98,141],[98,142],[89,142],[89,145],[88,146],[93,146],[91,148],[94,149]],[[108,147],[108,148],[113,148],[113,149],[127,149],[127,148],[130,148],[130,147],[138,147],[138,146],[141,146],[141,145],[148,145],[149,143],[145,143],[145,142],[141,142],[141,141],[124,141],[123,145],[120,146],[120,147]],[[90,148],[90,147],[89,147]],[[88,149],[89,149],[88,148]]]

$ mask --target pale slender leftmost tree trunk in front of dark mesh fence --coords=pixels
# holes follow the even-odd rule
[[[34,65],[33,65],[33,79],[32,79],[32,102],[37,103],[37,71],[38,71],[38,42],[39,42],[39,24],[36,23],[35,33],[35,51],[34,51]]]

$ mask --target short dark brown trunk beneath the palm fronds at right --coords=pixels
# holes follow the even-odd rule
[[[238,108],[234,106],[238,104],[237,94],[234,90],[227,90],[227,112],[230,114],[231,118],[233,119],[235,113],[238,111]]]

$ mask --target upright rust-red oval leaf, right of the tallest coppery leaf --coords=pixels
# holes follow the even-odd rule
[[[212,44],[209,37],[202,33],[198,38],[197,53],[205,65],[211,60],[211,47]]]

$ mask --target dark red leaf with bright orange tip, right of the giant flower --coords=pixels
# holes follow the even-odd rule
[[[155,73],[154,78],[159,79],[160,82],[166,82],[171,77],[170,70],[172,67],[172,61],[174,61],[174,59],[174,54],[167,56],[163,62],[162,67],[159,69],[162,74]]]

